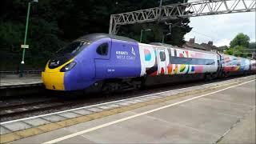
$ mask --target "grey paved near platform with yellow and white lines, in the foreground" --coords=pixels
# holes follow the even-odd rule
[[[254,143],[255,76],[1,123],[11,143]]]

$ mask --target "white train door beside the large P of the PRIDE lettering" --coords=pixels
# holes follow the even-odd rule
[[[158,55],[158,74],[166,74],[166,51],[165,49],[157,48]]]

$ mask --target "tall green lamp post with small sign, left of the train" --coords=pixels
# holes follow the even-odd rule
[[[26,30],[25,30],[25,36],[24,36],[24,43],[21,46],[22,50],[22,62],[20,65],[20,73],[19,73],[19,77],[23,77],[23,70],[24,70],[24,65],[25,65],[25,53],[26,53],[26,49],[29,48],[29,45],[26,45],[26,35],[27,35],[27,29],[29,26],[29,19],[30,19],[30,6],[32,2],[38,2],[38,0],[30,0],[28,3],[28,8],[27,8],[27,14],[26,14]]]

